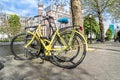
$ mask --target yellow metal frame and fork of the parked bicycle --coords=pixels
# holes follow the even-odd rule
[[[48,56],[49,55],[49,51],[55,50],[55,51],[60,51],[60,50],[65,50],[67,48],[67,44],[65,43],[64,39],[60,36],[59,34],[59,30],[57,29],[55,31],[55,33],[52,36],[51,40],[48,39],[43,39],[42,38],[42,33],[41,33],[41,24],[38,25],[37,29],[35,30],[35,32],[31,32],[31,31],[27,31],[27,33],[33,35],[32,39],[24,46],[25,48],[27,48],[32,42],[33,40],[36,38],[38,41],[41,42],[41,44],[43,45],[43,47],[45,48],[46,52],[45,55]],[[52,48],[52,43],[54,41],[54,39],[56,37],[59,37],[59,39],[61,40],[62,44],[63,44],[63,48]],[[46,42],[48,43],[48,45],[46,45]]]

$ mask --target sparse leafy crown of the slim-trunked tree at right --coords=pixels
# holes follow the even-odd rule
[[[106,13],[108,9],[111,9],[115,5],[117,0],[81,0],[81,2],[85,13],[92,13],[98,17],[98,11]]]

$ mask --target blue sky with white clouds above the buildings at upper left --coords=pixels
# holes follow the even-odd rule
[[[42,1],[45,6],[48,4],[46,1]],[[34,16],[38,13],[38,0],[0,0],[0,5],[2,5],[3,11],[7,14]]]

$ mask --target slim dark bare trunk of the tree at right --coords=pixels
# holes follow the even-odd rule
[[[98,12],[98,17],[99,17],[99,25],[100,25],[100,35],[101,35],[101,42],[104,43],[104,25],[103,25],[103,18],[102,18],[102,13]]]

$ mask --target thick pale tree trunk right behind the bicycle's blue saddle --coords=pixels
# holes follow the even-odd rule
[[[73,25],[81,26],[83,29],[82,5],[80,0],[71,0],[71,12]],[[84,34],[84,29],[81,31]]]

